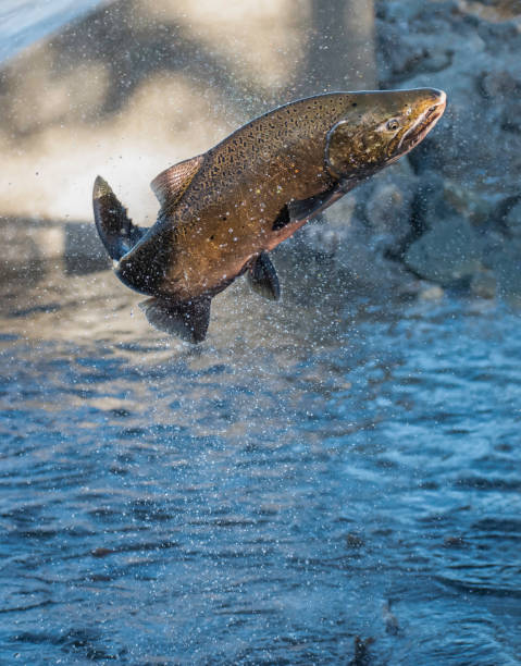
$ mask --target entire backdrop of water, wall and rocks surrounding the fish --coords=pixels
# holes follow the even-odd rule
[[[0,662],[521,661],[519,0],[0,1]],[[434,86],[410,157],[191,347],[96,236],[336,89]]]

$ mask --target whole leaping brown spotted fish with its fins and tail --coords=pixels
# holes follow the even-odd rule
[[[215,294],[247,273],[255,291],[277,300],[268,252],[409,152],[445,103],[442,90],[417,88],[331,92],[274,109],[161,172],[150,229],[134,225],[98,176],[95,220],[115,274],[151,296],[141,308],[153,326],[202,341]]]

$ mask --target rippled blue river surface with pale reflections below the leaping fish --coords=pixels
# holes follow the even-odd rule
[[[296,282],[3,284],[2,663],[519,663],[519,317]]]

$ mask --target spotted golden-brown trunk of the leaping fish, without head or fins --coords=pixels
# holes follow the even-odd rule
[[[141,252],[156,259],[158,281],[182,299],[227,286],[251,257],[290,235],[287,226],[272,231],[288,201],[333,186],[325,135],[348,103],[345,96],[328,96],[283,107],[209,150],[182,200],[160,213],[133,261]]]

